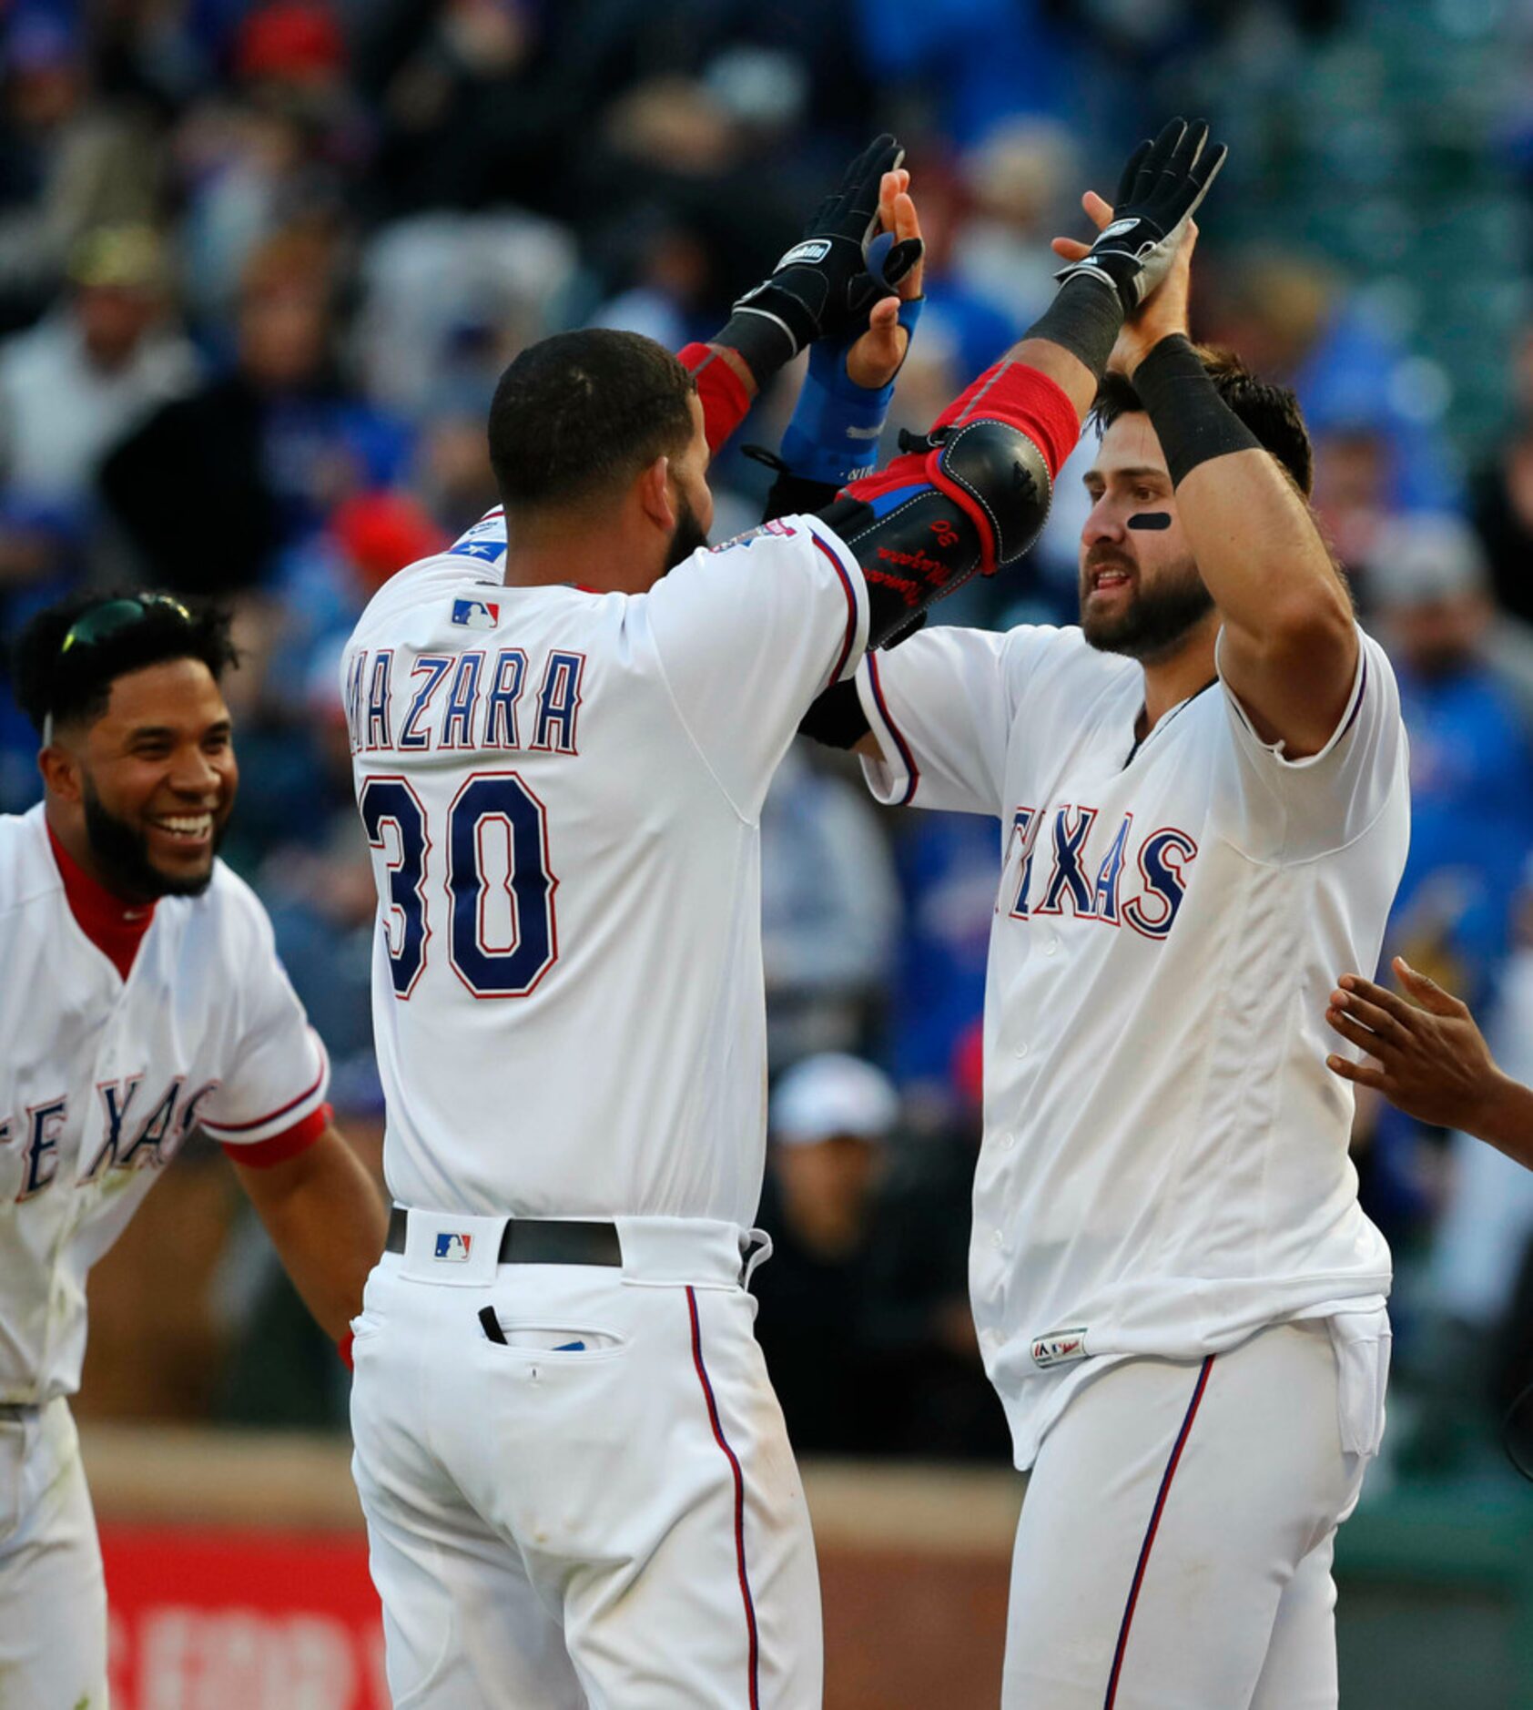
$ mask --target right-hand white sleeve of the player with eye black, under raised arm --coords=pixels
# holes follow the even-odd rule
[[[1215,646],[1232,735],[1231,764],[1215,780],[1212,817],[1251,860],[1289,865],[1345,848],[1379,817],[1408,763],[1400,689],[1384,650],[1357,633],[1347,706],[1318,754],[1289,759],[1263,742],[1224,681],[1224,631]]]

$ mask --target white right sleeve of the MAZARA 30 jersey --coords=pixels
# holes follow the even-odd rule
[[[783,516],[694,552],[646,607],[687,734],[754,821],[810,701],[863,657],[861,566],[819,518]]]

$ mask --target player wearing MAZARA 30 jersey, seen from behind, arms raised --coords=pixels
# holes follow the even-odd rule
[[[820,1703],[808,1517],[747,1291],[761,805],[870,641],[1036,537],[1123,318],[1066,284],[940,446],[704,551],[709,446],[807,339],[855,330],[897,157],[868,150],[682,363],[614,332],[523,352],[490,412],[504,513],[396,575],[347,648],[396,1200],[355,1324],[354,1465],[402,1710]],[[1167,176],[1184,210],[1193,162]],[[846,404],[866,457],[832,366],[815,434],[846,450]]]

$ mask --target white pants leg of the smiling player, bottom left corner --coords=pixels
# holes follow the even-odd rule
[[[106,1580],[63,1397],[0,1421],[0,1710],[106,1707]]]

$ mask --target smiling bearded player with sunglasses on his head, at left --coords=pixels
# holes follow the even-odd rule
[[[236,1163],[340,1341],[383,1206],[246,884],[227,622],[164,595],[41,612],[17,646],[44,800],[0,817],[0,1703],[103,1710],[106,1590],[68,1395],[85,1272],[188,1137]]]

